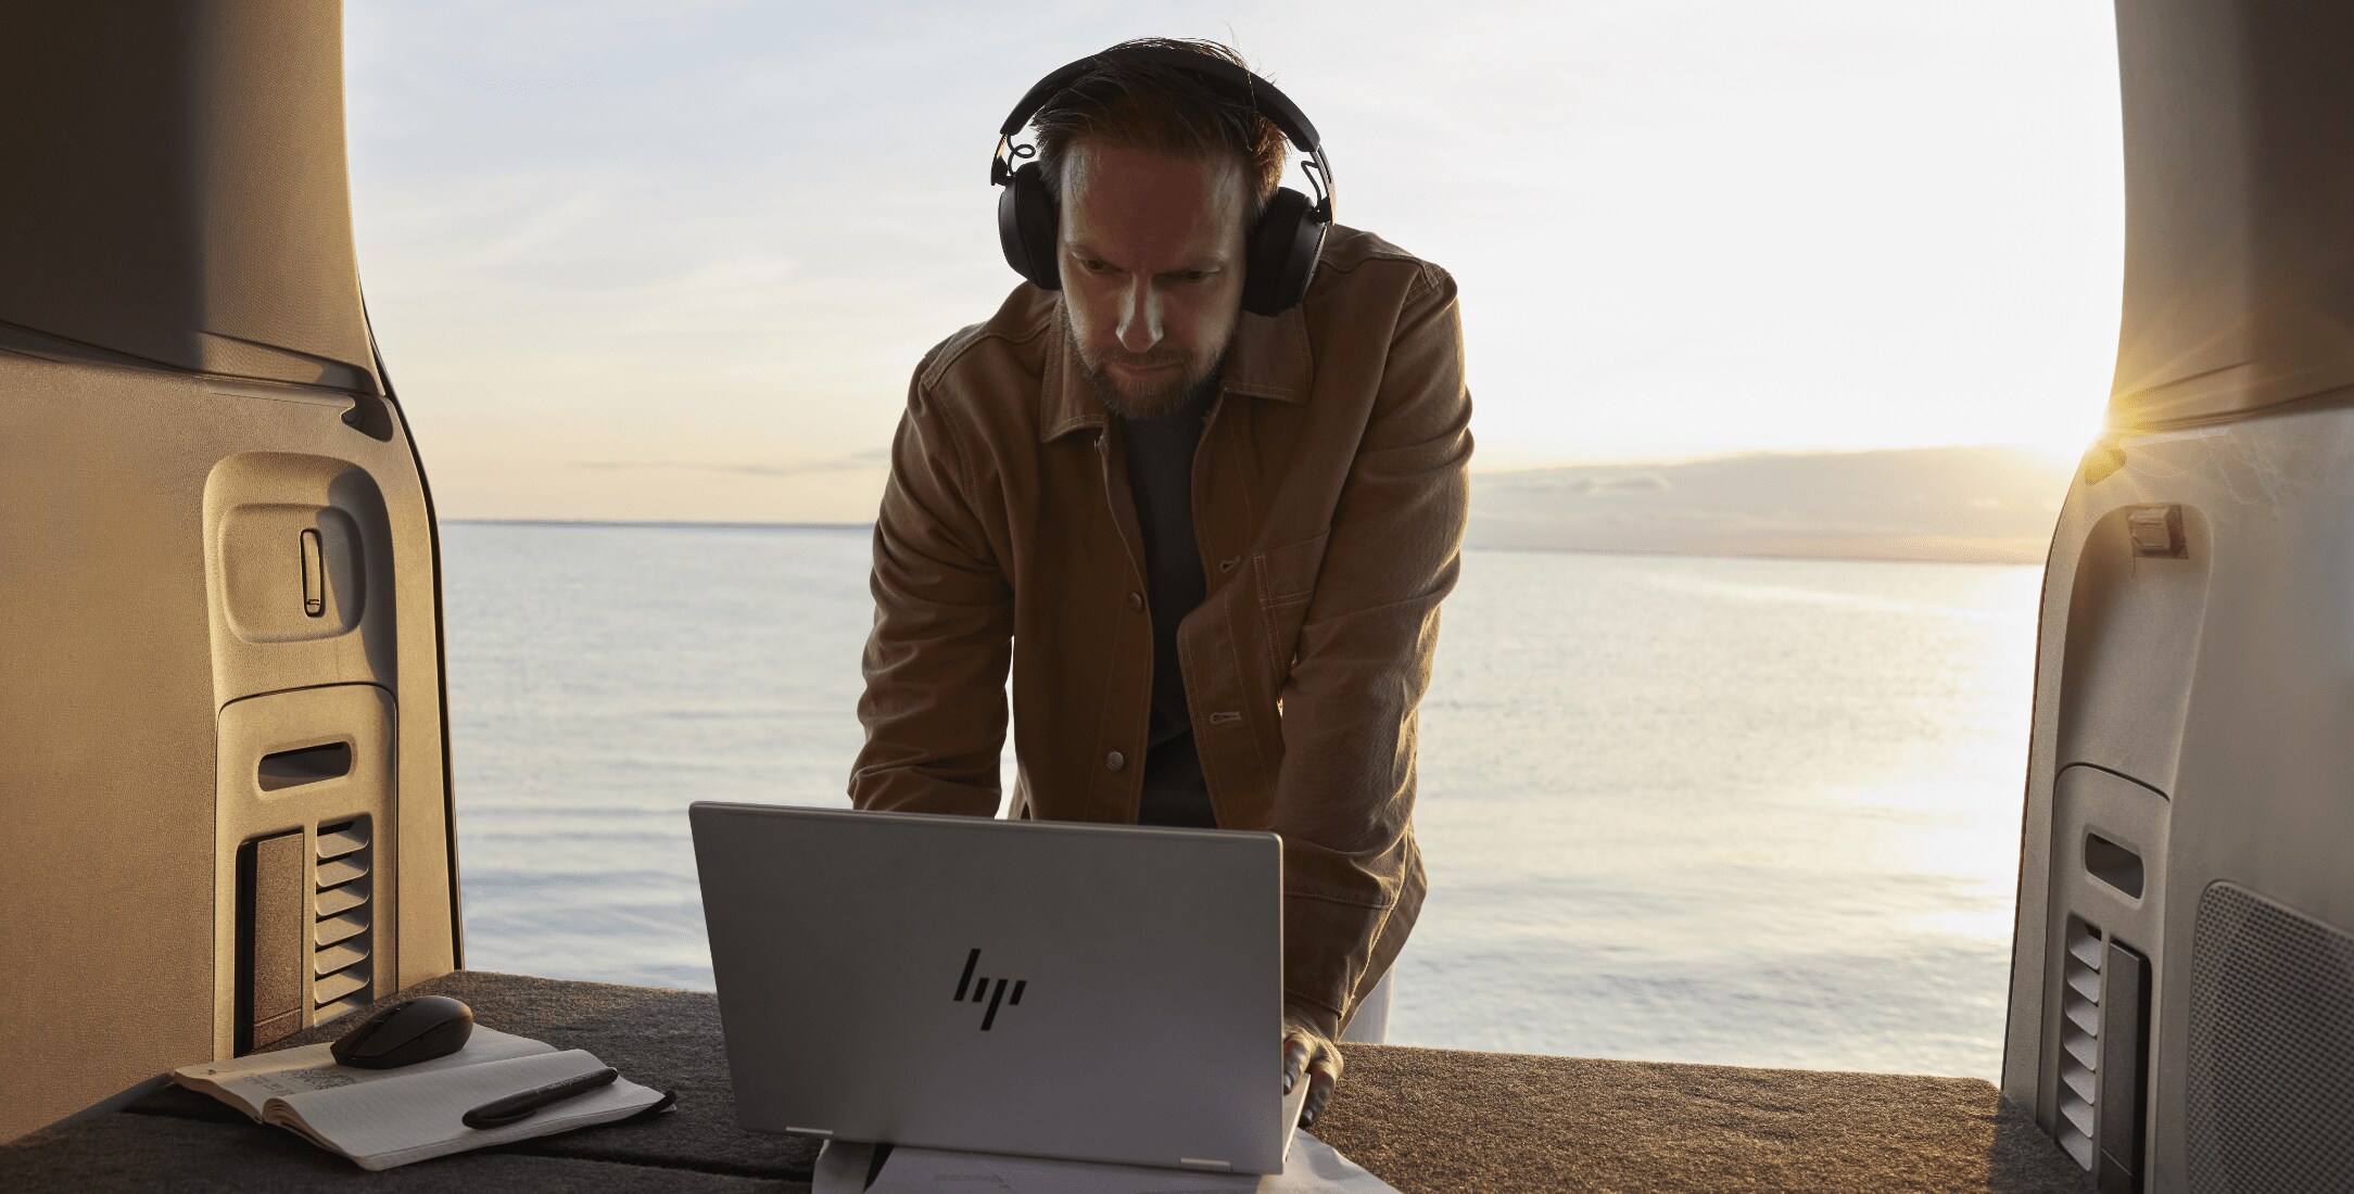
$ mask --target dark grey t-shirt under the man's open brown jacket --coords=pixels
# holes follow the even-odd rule
[[[1193,544],[1193,447],[1205,410],[1208,400],[1196,400],[1158,419],[1121,422],[1128,492],[1144,532],[1144,596],[1153,615],[1153,716],[1137,824],[1217,829],[1177,666],[1177,624],[1203,598],[1201,546]]]

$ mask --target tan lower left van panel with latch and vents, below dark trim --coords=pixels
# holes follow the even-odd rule
[[[405,429],[346,410],[0,351],[0,1137],[233,1053],[250,841],[304,834],[315,895],[367,862],[325,893],[365,893],[365,930],[304,911],[341,937],[306,954],[299,1022],[457,961],[431,516]]]

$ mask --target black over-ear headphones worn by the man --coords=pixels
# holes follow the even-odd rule
[[[1005,247],[1005,264],[1043,290],[1062,290],[1062,271],[1055,264],[1055,240],[1062,236],[1057,195],[1038,162],[1024,162],[1015,170],[1012,158],[1029,158],[1033,148],[1015,148],[1012,139],[1048,99],[1104,61],[1189,71],[1210,87],[1257,108],[1309,155],[1302,170],[1316,184],[1318,200],[1309,203],[1290,186],[1276,191],[1250,228],[1250,259],[1243,276],[1243,311],[1276,316],[1299,304],[1309,292],[1309,280],[1316,278],[1316,254],[1323,252],[1325,228],[1332,226],[1332,167],[1325,162],[1323,139],[1316,137],[1316,125],[1309,122],[1306,113],[1274,82],[1193,49],[1132,45],[1090,54],[1038,80],[1015,104],[1015,113],[998,127],[998,148],[989,155],[989,181],[1005,188],[998,193],[998,243]]]

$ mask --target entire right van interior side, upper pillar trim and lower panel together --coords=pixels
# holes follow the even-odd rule
[[[2116,40],[2123,320],[2043,575],[2003,1095],[2102,1189],[2342,1189],[2354,7],[2133,0]]]

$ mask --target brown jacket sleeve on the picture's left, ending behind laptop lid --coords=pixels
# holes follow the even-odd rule
[[[996,815],[1005,747],[1012,586],[975,511],[956,412],[909,386],[876,513],[873,631],[866,636],[850,803]]]

